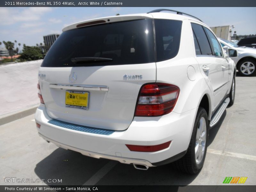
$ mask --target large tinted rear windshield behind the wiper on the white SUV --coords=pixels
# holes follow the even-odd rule
[[[72,58],[103,57],[111,61]],[[44,58],[42,67],[81,67],[155,62],[153,20],[132,20],[64,31]]]

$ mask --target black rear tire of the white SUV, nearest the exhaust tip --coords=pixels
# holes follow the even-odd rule
[[[204,148],[204,153],[202,160],[199,164],[196,163],[196,154],[195,154],[195,147],[196,147],[196,133],[197,129],[199,127],[199,122],[201,117],[205,119],[206,122],[206,140],[205,140],[205,148]],[[206,156],[206,151],[207,151],[207,145],[208,145],[208,138],[209,138],[209,121],[208,121],[208,116],[204,108],[199,107],[196,115],[196,121],[194,124],[191,140],[188,146],[188,150],[185,156],[183,156],[181,159],[173,162],[174,166],[185,173],[189,174],[196,174],[198,173],[203,165],[204,165],[204,159]]]

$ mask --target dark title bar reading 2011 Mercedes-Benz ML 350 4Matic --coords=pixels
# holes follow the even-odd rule
[[[255,7],[255,0],[1,0],[0,7]]]

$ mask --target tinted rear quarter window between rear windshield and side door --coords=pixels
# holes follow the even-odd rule
[[[175,57],[180,48],[182,21],[155,19],[156,61]]]

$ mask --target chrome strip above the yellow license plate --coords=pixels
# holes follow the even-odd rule
[[[108,86],[103,85],[49,84],[49,87],[55,89],[67,89],[78,91],[108,91]]]

